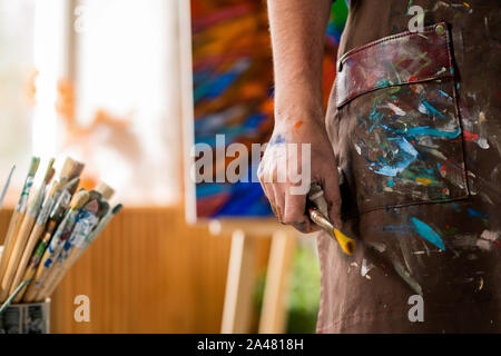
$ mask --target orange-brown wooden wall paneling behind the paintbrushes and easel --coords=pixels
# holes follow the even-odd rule
[[[10,211],[0,211],[0,240]],[[52,333],[219,333],[230,236],[187,226],[183,207],[125,208],[52,296]],[[258,238],[266,268],[269,238]],[[90,298],[90,323],[73,299]]]

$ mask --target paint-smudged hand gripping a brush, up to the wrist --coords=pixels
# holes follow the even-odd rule
[[[296,117],[301,115],[296,113]],[[292,122],[295,123],[292,125]],[[291,122],[287,120],[279,121],[275,126],[259,165],[259,180],[278,220],[294,226],[302,233],[318,229],[306,215],[306,194],[310,182],[320,184],[330,205],[330,218],[337,227],[341,227],[337,167],[331,141],[322,120],[303,122],[303,120]],[[297,150],[289,144],[296,144]],[[306,146],[311,148],[311,158],[303,154]],[[307,172],[304,170],[305,165],[310,168]],[[302,171],[301,167],[303,167]],[[303,181],[297,181],[298,176]],[[306,185],[305,190],[298,189],[302,185]]]

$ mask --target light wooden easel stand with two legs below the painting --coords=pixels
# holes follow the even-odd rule
[[[222,333],[249,333],[255,286],[256,237],[272,236],[259,333],[285,332],[289,273],[297,233],[275,220],[213,220],[213,235],[232,234]]]

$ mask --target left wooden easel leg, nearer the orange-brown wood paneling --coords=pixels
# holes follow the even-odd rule
[[[223,334],[249,333],[255,286],[256,238],[235,230],[232,236],[223,309]]]

